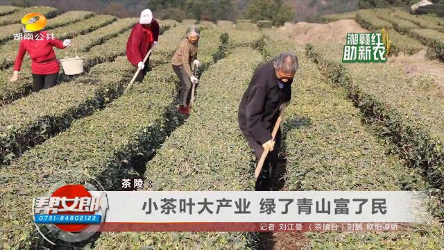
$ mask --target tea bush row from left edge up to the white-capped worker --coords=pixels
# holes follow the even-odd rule
[[[126,49],[126,39],[128,39],[128,36],[123,35],[127,34],[119,35],[101,46],[93,47],[87,63],[101,60],[100,56],[112,60],[123,55]],[[97,56],[97,58],[92,58],[92,56]],[[89,75],[101,75],[105,71],[108,72],[107,67],[111,69],[111,76],[123,74],[117,85],[111,82],[109,84],[106,82],[105,84],[83,84],[89,80]],[[4,124],[4,128],[1,129],[0,163],[8,163],[12,158],[20,156],[28,147],[46,140],[58,131],[63,131],[73,119],[89,115],[104,103],[118,97],[121,94],[121,88],[129,81],[128,74],[133,74],[133,71],[134,67],[122,57],[113,63],[94,66],[87,76],[80,76],[54,89],[32,94],[2,108],[0,112],[9,115],[0,118],[2,119],[0,124]],[[83,94],[79,95],[79,92]],[[36,109],[35,106],[39,108]]]

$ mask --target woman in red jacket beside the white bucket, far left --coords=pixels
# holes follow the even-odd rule
[[[31,73],[33,74],[33,92],[53,87],[57,83],[60,70],[53,47],[65,49],[71,46],[71,40],[67,39],[62,42],[53,38],[53,35],[46,31],[30,33],[25,28],[22,31],[25,34],[32,34],[32,36],[24,35],[20,41],[19,52],[14,63],[14,74],[10,81],[15,82],[19,79],[22,61],[25,53],[28,52],[31,58]]]

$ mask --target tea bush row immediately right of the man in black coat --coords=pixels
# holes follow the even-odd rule
[[[268,53],[296,48],[291,42],[274,41]],[[414,173],[404,160],[361,123],[362,115],[347,100],[343,88],[334,88],[299,49],[300,69],[293,85],[292,103],[284,116],[285,185],[288,190],[400,190],[402,179]],[[416,180],[416,188],[424,183]],[[443,245],[439,225],[413,233],[307,233],[311,249],[407,249]]]

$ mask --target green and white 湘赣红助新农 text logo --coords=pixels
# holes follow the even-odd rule
[[[385,63],[391,41],[386,29],[381,33],[348,33],[343,47],[343,63]]]

